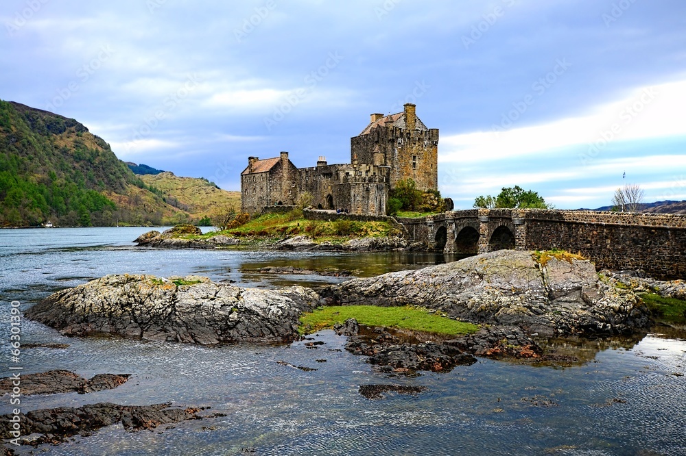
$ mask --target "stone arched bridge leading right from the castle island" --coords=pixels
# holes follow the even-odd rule
[[[472,209],[398,218],[412,240],[445,253],[563,249],[595,266],[686,279],[686,215],[539,209]]]

